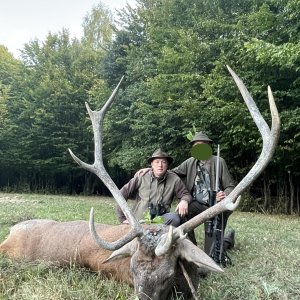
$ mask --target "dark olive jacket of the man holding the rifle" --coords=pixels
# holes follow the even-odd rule
[[[185,160],[178,167],[172,169],[172,172],[177,174],[185,183],[188,191],[192,194],[196,172],[197,172],[197,163],[199,160],[194,157],[190,157]],[[216,184],[216,166],[217,166],[217,156],[213,155],[210,159],[203,161],[203,167],[207,170],[210,178],[211,189],[215,190]],[[226,196],[231,193],[234,189],[235,183],[229,173],[227,164],[225,160],[220,157],[219,164],[219,190],[224,191]]]

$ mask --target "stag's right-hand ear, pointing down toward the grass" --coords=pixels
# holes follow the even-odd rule
[[[183,239],[177,242],[179,257],[188,262],[194,263],[199,268],[207,270],[224,272],[212,258],[210,258],[204,251],[195,246],[190,240]]]

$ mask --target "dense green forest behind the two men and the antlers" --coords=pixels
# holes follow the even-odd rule
[[[270,123],[267,86],[281,118],[274,158],[242,210],[300,214],[300,10],[298,0],[137,0],[118,13],[100,1],[68,29],[29,41],[15,58],[0,45],[0,190],[106,195],[71,148],[92,162],[85,102],[101,108],[124,81],[104,123],[105,165],[122,187],[157,148],[190,154],[206,132],[238,182],[261,151],[259,132],[226,65]]]

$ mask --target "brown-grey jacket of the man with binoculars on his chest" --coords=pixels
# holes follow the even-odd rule
[[[192,201],[192,197],[182,180],[169,171],[162,178],[155,177],[152,171],[143,176],[135,176],[122,187],[121,193],[126,200],[136,200],[132,211],[138,220],[143,218],[143,214],[148,210],[150,203],[153,205],[163,204],[166,211],[169,212],[174,197],[188,203]],[[117,216],[120,222],[126,220],[119,206],[117,206]]]

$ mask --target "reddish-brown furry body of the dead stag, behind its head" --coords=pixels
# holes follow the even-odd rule
[[[126,234],[129,226],[96,225],[97,232],[107,241]],[[11,228],[8,238],[0,245],[0,252],[14,260],[45,260],[59,265],[72,262],[99,271],[108,277],[132,285],[128,258],[104,263],[111,251],[99,248],[86,221],[56,222],[28,220]]]

